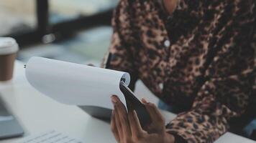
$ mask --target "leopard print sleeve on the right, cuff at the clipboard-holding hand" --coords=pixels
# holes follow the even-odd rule
[[[216,56],[209,56],[212,60],[206,69],[206,82],[197,92],[192,109],[167,125],[170,134],[178,134],[188,143],[214,142],[227,132],[229,119],[241,116],[255,98],[255,15],[253,6],[237,11],[234,20],[219,33],[219,42],[227,44],[216,51]]]

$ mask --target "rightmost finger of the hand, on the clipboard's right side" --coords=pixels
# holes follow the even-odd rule
[[[154,128],[163,129],[165,127],[165,119],[160,113],[159,109],[157,109],[155,104],[147,102],[146,99],[142,99],[142,103],[145,104],[147,112],[150,114],[152,125],[155,126]]]

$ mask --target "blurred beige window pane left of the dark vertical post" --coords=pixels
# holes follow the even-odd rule
[[[0,19],[0,36],[32,31],[37,25],[35,0],[1,0]]]

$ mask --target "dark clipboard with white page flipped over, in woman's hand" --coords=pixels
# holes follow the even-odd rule
[[[109,120],[114,108],[111,96],[116,95],[127,112],[137,112],[142,128],[151,121],[145,105],[128,87],[127,72],[36,56],[25,68],[32,87],[57,102],[78,105],[93,117]]]

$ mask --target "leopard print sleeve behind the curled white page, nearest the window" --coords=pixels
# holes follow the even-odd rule
[[[129,87],[133,90],[138,74],[133,64],[132,30],[130,29],[129,10],[127,9],[129,4],[127,3],[127,1],[119,2],[111,21],[114,33],[109,48],[109,53],[111,53],[109,69],[127,71],[131,76]]]

